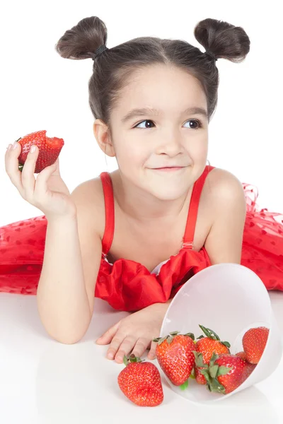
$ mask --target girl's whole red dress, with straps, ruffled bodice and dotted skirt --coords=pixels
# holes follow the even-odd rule
[[[197,209],[207,165],[194,184],[183,245],[178,254],[158,264],[149,272],[139,262],[107,258],[115,228],[112,181],[102,172],[105,198],[105,232],[95,297],[106,300],[116,310],[134,312],[155,302],[166,302],[195,273],[210,266],[204,247],[192,249]],[[241,265],[258,274],[267,290],[283,290],[283,215],[256,204],[258,190],[242,183],[246,195],[246,223],[243,231]],[[35,295],[45,249],[47,220],[37,216],[0,227],[0,292]]]

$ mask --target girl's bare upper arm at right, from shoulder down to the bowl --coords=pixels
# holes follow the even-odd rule
[[[243,185],[231,172],[217,169],[212,188],[214,222],[204,247],[211,264],[241,263],[246,197]]]

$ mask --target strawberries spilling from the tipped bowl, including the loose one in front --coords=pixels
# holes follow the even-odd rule
[[[200,325],[204,336],[195,341],[192,333],[154,338],[156,358],[171,383],[185,390],[189,378],[205,384],[209,391],[229,394],[239,387],[255,369],[265,345],[269,329],[264,326],[249,329],[243,336],[243,351],[232,355],[230,343]],[[122,392],[139,406],[158,406],[163,401],[161,375],[156,365],[135,355],[124,357],[126,367],[118,375]]]

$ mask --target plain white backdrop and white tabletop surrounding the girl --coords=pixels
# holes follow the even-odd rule
[[[108,47],[134,37],[178,38],[200,47],[197,22],[216,18],[242,26],[250,52],[241,64],[219,59],[216,113],[209,126],[210,163],[259,189],[258,203],[283,212],[281,1],[10,1],[1,6],[0,225],[42,215],[24,201],[4,169],[8,143],[33,131],[62,137],[60,169],[70,191],[117,168],[93,136],[88,107],[91,59],[59,57],[54,45],[87,16],[108,28]],[[283,334],[282,293],[270,293]],[[212,407],[189,404],[162,376],[164,401],[139,408],[117,387],[124,365],[105,359],[93,341],[127,312],[96,300],[80,343],[62,345],[43,329],[33,296],[0,296],[0,421],[4,424],[156,423],[174,412],[178,423],[283,422],[283,363],[265,381]],[[215,329],[216,330],[216,329]],[[146,358],[146,357],[143,357]]]

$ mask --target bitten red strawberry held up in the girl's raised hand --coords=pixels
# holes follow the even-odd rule
[[[18,156],[18,169],[23,170],[23,165],[28,156],[31,146],[34,144],[39,148],[35,163],[35,174],[41,172],[45,167],[56,162],[59,153],[64,146],[64,140],[57,137],[47,137],[46,130],[36,131],[16,140],[21,144],[21,153]]]

